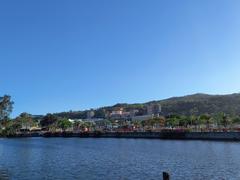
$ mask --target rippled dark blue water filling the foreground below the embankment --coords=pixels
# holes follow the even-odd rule
[[[240,179],[240,143],[0,139],[0,179]]]

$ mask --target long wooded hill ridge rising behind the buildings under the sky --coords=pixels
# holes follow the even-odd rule
[[[217,114],[224,112],[229,115],[240,115],[240,93],[228,95],[209,95],[209,94],[192,94],[181,97],[171,97],[168,99],[150,101],[146,103],[118,103],[113,106],[101,107],[95,109],[95,117],[103,118],[104,114],[113,111],[117,107],[122,107],[126,111],[137,109],[139,115],[146,112],[146,105],[150,103],[158,103],[162,106],[162,115],[170,114],[178,115],[201,115],[201,114]],[[70,111],[55,113],[55,115],[67,118],[86,118],[86,111]]]

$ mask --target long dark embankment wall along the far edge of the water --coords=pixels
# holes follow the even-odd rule
[[[240,141],[240,132],[81,132],[81,133],[45,132],[45,133],[21,133],[6,137],[145,138],[145,139],[176,139],[176,140]]]

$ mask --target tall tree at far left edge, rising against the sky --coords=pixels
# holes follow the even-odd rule
[[[0,120],[7,119],[12,112],[14,102],[11,101],[11,96],[5,95],[0,97]]]

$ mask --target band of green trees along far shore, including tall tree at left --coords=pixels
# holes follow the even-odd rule
[[[155,130],[155,129],[174,129],[185,128],[192,131],[229,129],[233,130],[240,125],[239,115],[229,115],[223,112],[216,114],[202,115],[179,115],[170,114],[167,116],[153,117],[147,120],[110,120],[104,119],[97,122],[75,121],[70,122],[68,117],[58,116],[57,114],[46,114],[41,118],[35,118],[31,114],[22,113],[18,117],[11,119],[9,116],[13,110],[14,102],[11,96],[0,97],[0,133],[9,135],[20,132],[22,129],[39,127],[45,131],[96,131],[102,130]],[[102,111],[99,111],[102,114]]]

